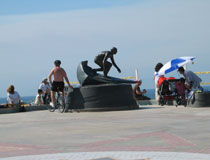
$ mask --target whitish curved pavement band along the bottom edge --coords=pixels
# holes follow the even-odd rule
[[[77,152],[0,158],[0,160],[209,160],[210,155],[181,152]]]

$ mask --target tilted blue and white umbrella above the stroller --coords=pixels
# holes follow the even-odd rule
[[[170,73],[176,69],[178,69],[181,66],[184,66],[185,64],[192,62],[195,59],[195,57],[179,57],[170,60],[168,63],[166,63],[157,73],[157,75],[165,75],[167,73]]]

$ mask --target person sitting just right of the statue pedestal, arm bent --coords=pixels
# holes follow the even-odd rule
[[[140,85],[142,84],[142,81],[139,81],[138,83],[135,84],[133,88],[133,93],[136,98],[136,100],[150,100],[149,97],[144,96],[144,94],[147,93],[147,90],[143,90],[143,92],[140,89]]]

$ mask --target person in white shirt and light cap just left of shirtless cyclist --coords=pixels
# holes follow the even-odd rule
[[[46,98],[50,95],[50,85],[47,81],[47,78],[43,78],[42,83],[39,85],[39,89],[41,89],[42,92],[42,99],[44,101],[44,104],[47,104]],[[50,96],[49,96],[50,97]]]

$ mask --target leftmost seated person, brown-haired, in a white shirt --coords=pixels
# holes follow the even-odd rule
[[[10,85],[7,92],[7,105],[17,107],[18,111],[25,112],[24,106],[21,106],[20,95],[17,91],[15,91],[15,87]]]

